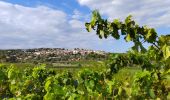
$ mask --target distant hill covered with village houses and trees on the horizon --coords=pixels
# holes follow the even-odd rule
[[[62,62],[104,60],[107,52],[88,49],[36,48],[0,50],[0,62]]]

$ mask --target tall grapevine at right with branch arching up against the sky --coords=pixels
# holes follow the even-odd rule
[[[109,62],[110,72],[117,73],[127,66],[141,67],[143,72],[136,74],[132,97],[143,99],[166,99],[168,89],[165,84],[167,70],[170,67],[170,35],[158,36],[154,28],[139,26],[128,16],[124,22],[115,19],[112,22],[102,19],[97,10],[93,11],[90,23],[86,23],[87,31],[96,31],[99,38],[112,36],[126,42],[132,41],[134,46],[126,55],[116,55]],[[143,43],[150,43],[147,50]]]

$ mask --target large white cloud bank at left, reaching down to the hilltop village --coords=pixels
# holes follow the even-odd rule
[[[77,17],[47,6],[25,7],[0,1],[0,49],[65,47],[109,50],[109,40],[87,33],[84,17]],[[78,15],[81,15],[80,17]],[[74,17],[74,18],[73,18]]]

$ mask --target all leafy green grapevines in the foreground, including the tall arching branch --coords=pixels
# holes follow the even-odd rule
[[[102,70],[81,69],[58,73],[45,65],[17,69],[0,65],[0,98],[4,100],[167,100],[170,95],[170,36],[139,26],[128,16],[124,22],[102,19],[93,11],[87,31],[134,46],[126,54],[110,55]],[[146,49],[143,43],[150,46]],[[125,68],[137,68],[133,81],[115,78]],[[128,74],[127,74],[128,75]],[[131,79],[132,80],[132,79]]]

